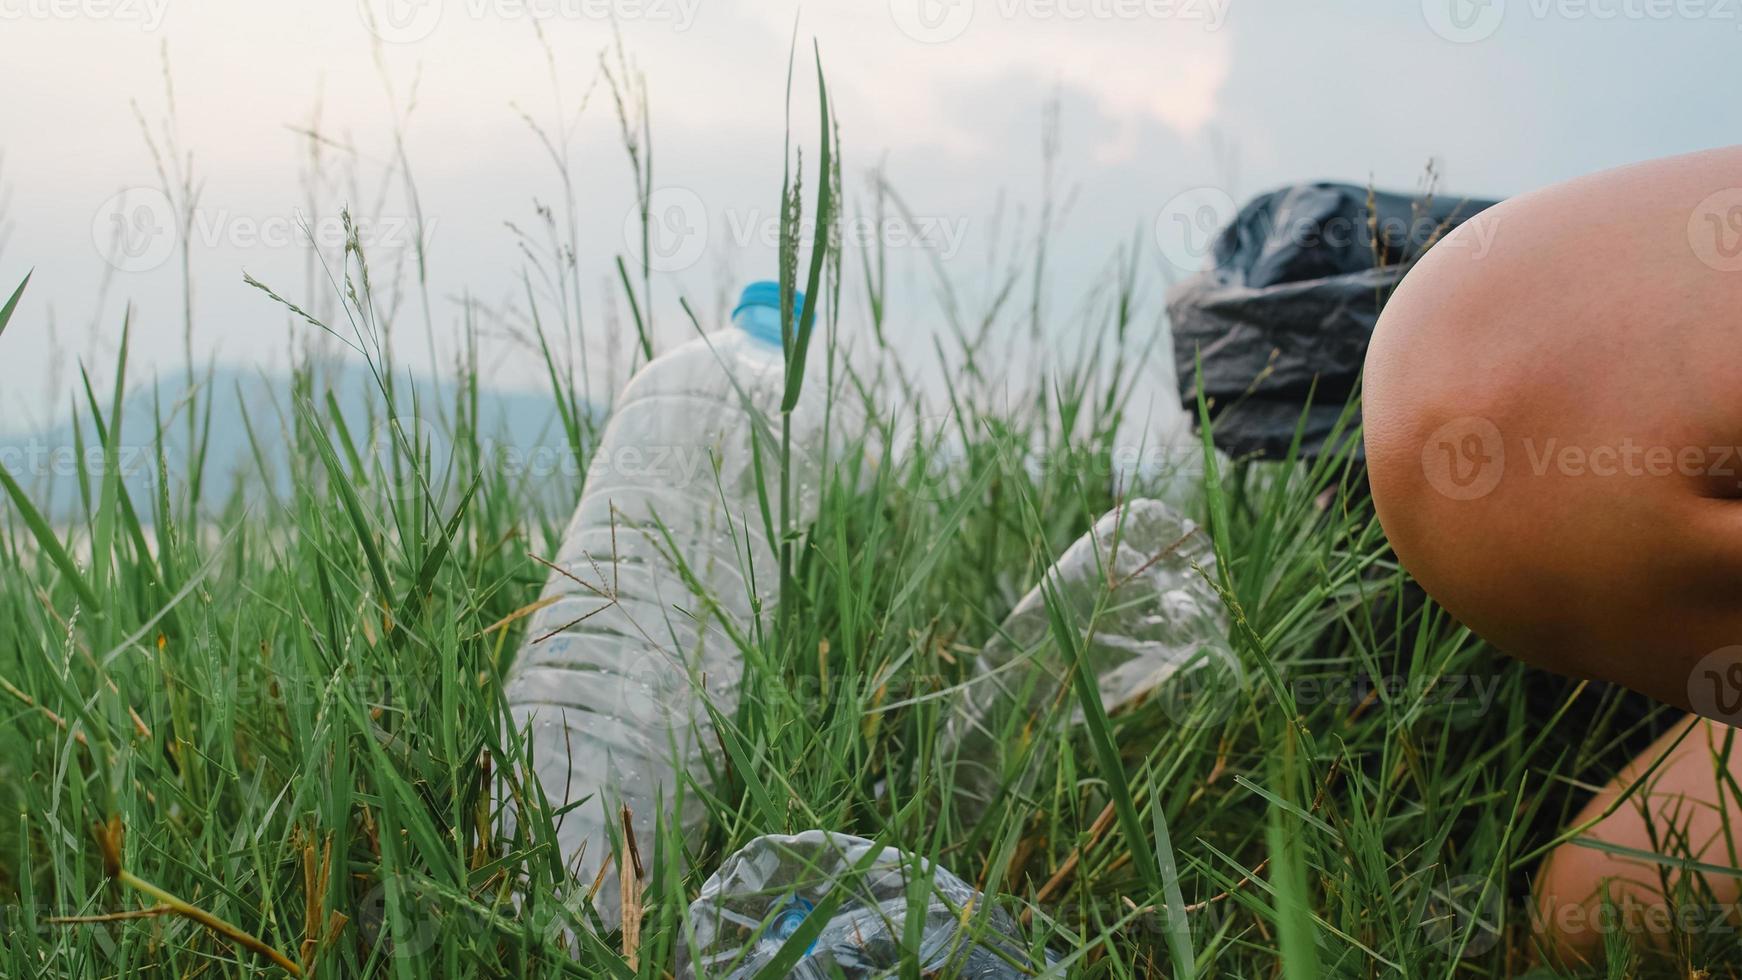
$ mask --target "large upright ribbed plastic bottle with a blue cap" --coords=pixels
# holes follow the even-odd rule
[[[753,642],[754,609],[772,609],[777,597],[753,446],[772,519],[780,520],[779,296],[773,282],[751,284],[732,326],[631,378],[554,560],[563,571],[550,574],[549,604],[531,618],[505,682],[510,717],[531,733],[533,766],[552,809],[585,799],[559,816],[557,844],[571,870],[589,879],[601,862],[615,865],[610,841],[622,806],[634,813],[648,855],[660,808],[695,842],[702,818],[695,792],[685,794],[681,813],[671,806],[679,773],[706,785],[704,754],[718,752],[702,695],[733,715],[742,677],[733,637]],[[803,296],[794,306],[803,308]],[[831,453],[827,420],[841,411],[826,406],[826,360],[819,336],[793,414],[791,482],[801,522],[815,513]],[[599,891],[606,924],[617,919],[615,896],[615,888]]]

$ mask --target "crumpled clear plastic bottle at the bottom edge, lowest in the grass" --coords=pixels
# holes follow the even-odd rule
[[[873,849],[881,853],[855,877]],[[916,877],[928,877],[930,888],[918,947],[906,950],[902,935]],[[1016,921],[949,870],[848,834],[807,830],[751,841],[702,884],[678,950],[678,977],[754,977],[838,888],[850,893],[787,977],[885,977],[909,957],[925,975],[944,966],[967,980],[1035,973]]]

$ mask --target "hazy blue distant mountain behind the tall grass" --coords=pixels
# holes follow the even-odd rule
[[[253,367],[218,367],[209,376],[195,376],[199,413],[211,400],[211,428],[206,439],[204,496],[221,503],[237,487],[251,498],[263,487],[284,498],[289,491],[289,432],[296,425],[293,376]],[[157,494],[157,425],[164,420],[164,458],[172,482],[185,486],[192,475],[188,440],[188,379],[178,373],[129,392],[122,400],[122,451],[118,465],[124,484],[139,505],[141,519]],[[327,393],[338,406],[359,453],[387,453],[390,432],[385,425],[385,397],[368,367],[357,364],[326,366],[315,373],[312,397],[315,411],[329,413]],[[434,446],[436,470],[448,463],[453,411],[458,385],[397,374],[395,402],[402,425],[416,425]],[[99,392],[108,411],[108,393]],[[540,479],[538,491],[547,503],[563,505],[580,484],[580,473],[568,451],[568,437],[549,393],[491,390],[477,393],[479,432],[496,465],[517,468]],[[416,421],[411,421],[416,420]],[[197,425],[204,418],[195,420]],[[253,432],[253,440],[249,439]],[[84,440],[80,449],[80,439]],[[258,454],[256,454],[258,446]],[[63,420],[37,432],[0,433],[0,463],[23,484],[37,507],[54,522],[73,520],[80,513],[78,456],[101,467],[101,442],[91,413],[80,406],[78,423]],[[179,487],[174,487],[179,491]]]

